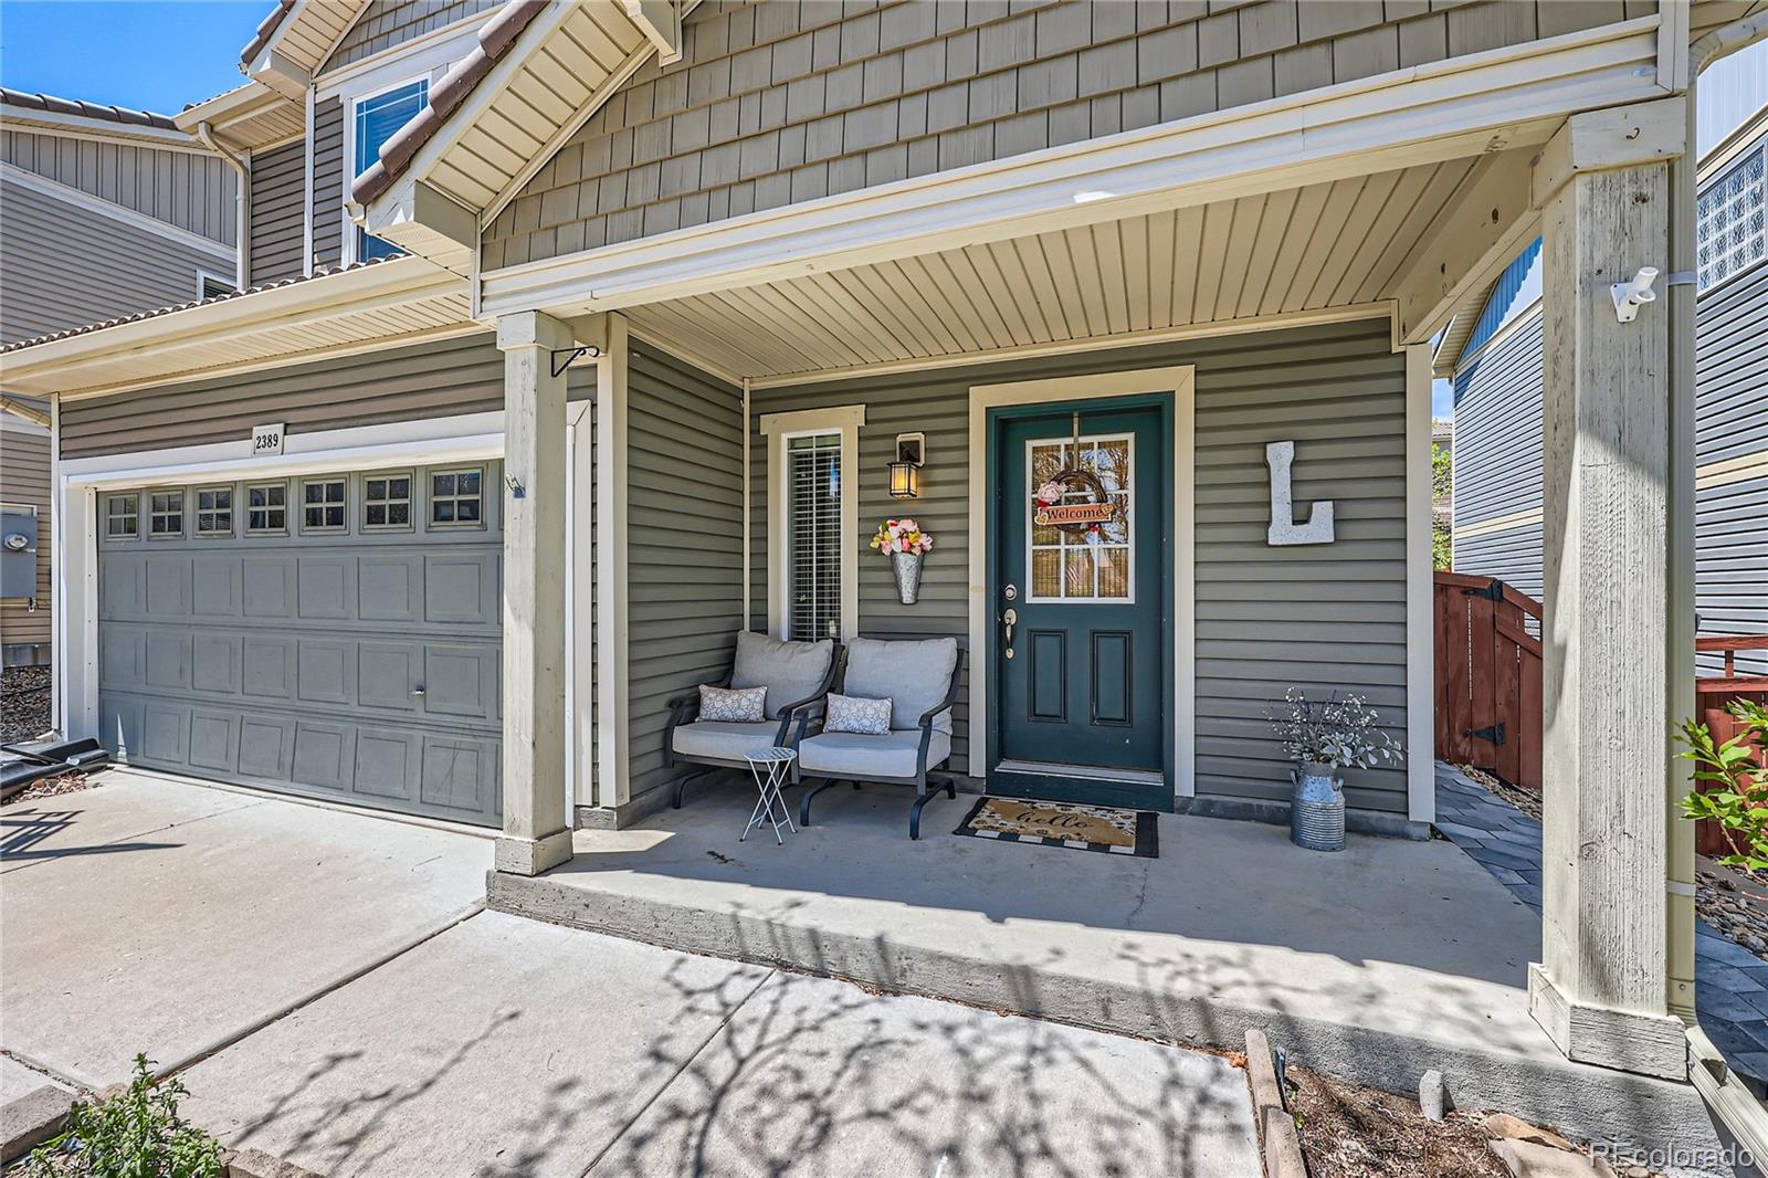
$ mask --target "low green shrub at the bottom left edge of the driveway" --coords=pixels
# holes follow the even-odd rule
[[[179,1116],[177,1079],[154,1082],[147,1056],[134,1058],[126,1091],[76,1104],[67,1132],[37,1146],[30,1178],[221,1178],[221,1146]]]

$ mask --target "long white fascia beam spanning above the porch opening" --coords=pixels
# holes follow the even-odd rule
[[[1536,145],[1660,97],[1657,16],[493,271],[486,313],[580,315]]]

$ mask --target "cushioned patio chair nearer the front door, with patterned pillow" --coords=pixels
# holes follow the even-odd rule
[[[799,826],[810,826],[810,799],[840,782],[914,785],[909,838],[921,837],[921,808],[932,799],[928,773],[951,759],[951,706],[964,679],[964,651],[956,639],[884,642],[854,639],[847,665],[833,692],[859,699],[889,699],[889,732],[824,732],[824,709],[799,720],[797,764],[792,780],[820,778],[799,803]],[[935,784],[958,796],[949,775]]]

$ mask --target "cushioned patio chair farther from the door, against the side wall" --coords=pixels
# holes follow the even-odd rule
[[[744,630],[737,635],[737,653],[730,674],[707,686],[766,686],[766,716],[758,723],[735,720],[700,720],[700,692],[686,692],[668,700],[663,727],[663,764],[670,769],[693,766],[675,782],[675,808],[690,782],[721,769],[743,769],[744,753],[757,748],[794,748],[804,722],[815,715],[842,669],[842,646],[834,639],[820,642],[783,642]],[[794,720],[797,723],[794,725]]]

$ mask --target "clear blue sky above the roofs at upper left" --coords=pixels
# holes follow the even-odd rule
[[[175,115],[244,78],[274,0],[0,0],[0,85]]]

